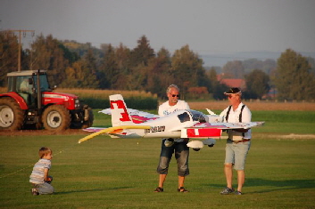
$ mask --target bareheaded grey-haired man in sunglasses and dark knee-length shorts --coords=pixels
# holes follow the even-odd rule
[[[159,115],[165,117],[179,109],[189,109],[186,101],[178,100],[179,88],[176,84],[171,84],[166,90],[169,100],[165,101],[159,107]],[[178,164],[178,192],[187,192],[184,188],[185,177],[189,174],[188,157],[189,148],[187,142],[189,139],[163,139],[160,155],[160,162],[157,167],[159,173],[159,186],[154,192],[162,192],[163,184],[169,171],[170,159],[175,152],[175,157]]]

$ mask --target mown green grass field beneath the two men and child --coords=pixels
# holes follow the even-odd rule
[[[174,160],[164,192],[153,193],[161,139],[98,136],[78,144],[85,135],[0,136],[0,207],[315,208],[314,118],[313,111],[253,111],[253,120],[266,125],[253,130],[243,196],[220,196],[223,139],[211,149],[191,150],[190,192],[183,194],[177,192]],[[95,113],[95,126],[109,123]],[[33,197],[29,174],[42,146],[54,150],[55,193]]]

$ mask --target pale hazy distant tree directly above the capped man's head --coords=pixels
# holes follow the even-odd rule
[[[245,74],[244,66],[240,60],[228,61],[228,63],[223,66],[222,71],[224,78],[243,79]]]

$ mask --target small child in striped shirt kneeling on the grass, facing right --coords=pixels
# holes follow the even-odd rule
[[[34,196],[53,194],[54,188],[50,185],[53,177],[48,176],[48,171],[52,165],[53,151],[52,149],[43,147],[39,149],[38,155],[40,159],[34,165],[33,171],[29,176],[29,182],[33,185],[31,193]]]

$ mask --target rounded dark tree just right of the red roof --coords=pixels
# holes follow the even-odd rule
[[[248,99],[261,99],[269,92],[269,76],[261,69],[254,69],[245,75],[246,92]]]

